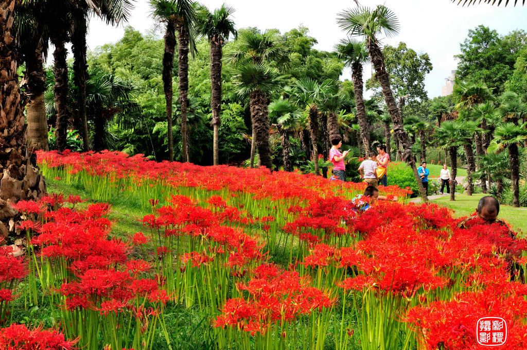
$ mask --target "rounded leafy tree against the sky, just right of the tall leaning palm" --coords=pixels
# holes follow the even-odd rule
[[[424,81],[426,74],[432,71],[430,57],[427,53],[418,54],[403,42],[397,46],[386,45],[383,55],[394,93],[405,96],[408,114],[422,114],[423,105],[428,101]],[[366,82],[366,86],[373,88],[376,96],[382,95],[375,75]]]

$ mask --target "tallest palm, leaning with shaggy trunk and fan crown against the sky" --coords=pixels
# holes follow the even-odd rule
[[[368,7],[358,7],[349,9],[338,15],[338,24],[348,34],[353,36],[362,36],[366,40],[366,48],[369,57],[372,60],[375,69],[375,76],[383,91],[384,100],[388,113],[392,118],[394,133],[397,140],[402,144],[403,160],[408,163],[414,172],[415,179],[419,186],[419,192],[424,201],[428,200],[426,190],[420,181],[414,156],[412,154],[412,145],[408,140],[403,126],[403,116],[397,107],[392,88],[390,86],[390,77],[384,64],[384,55],[377,40],[377,35],[384,32],[387,36],[394,35],[399,30],[399,23],[395,14],[386,6],[379,5],[375,9]]]

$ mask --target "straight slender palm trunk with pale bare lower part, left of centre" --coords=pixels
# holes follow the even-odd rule
[[[210,107],[212,110],[212,128],[214,135],[212,139],[212,159],[213,164],[219,164],[219,140],[218,130],[221,124],[221,57],[223,55],[221,48],[222,38],[212,37],[210,41]]]

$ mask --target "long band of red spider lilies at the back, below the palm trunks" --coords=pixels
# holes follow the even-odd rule
[[[320,196],[345,196],[349,190],[363,191],[364,183],[328,182],[314,175],[296,172],[273,172],[268,169],[241,169],[230,166],[200,167],[190,163],[154,162],[142,155],[129,157],[125,153],[103,151],[76,153],[64,151],[38,152],[38,161],[49,168],[65,167],[71,173],[85,171],[97,177],[161,181],[174,188],[203,188],[210,191],[228,189],[231,192],[251,193],[255,199],[314,199]],[[339,182],[339,183],[336,183]],[[383,188],[387,194],[405,197],[411,193],[397,186]]]

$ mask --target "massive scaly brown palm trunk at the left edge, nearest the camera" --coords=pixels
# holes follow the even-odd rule
[[[18,212],[11,203],[40,198],[46,192],[44,177],[36,164],[36,156],[26,147],[24,110],[16,62],[14,37],[15,0],[0,2],[0,236],[14,234],[9,221]]]

